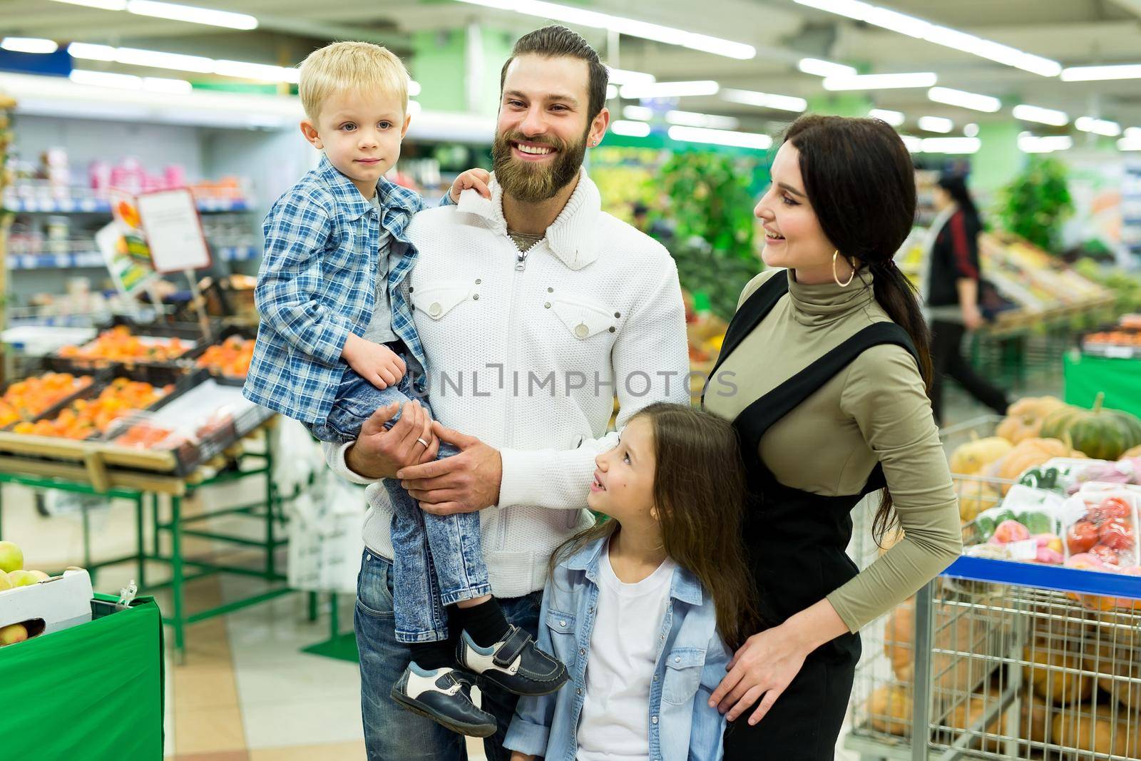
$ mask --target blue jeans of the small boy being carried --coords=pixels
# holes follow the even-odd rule
[[[389,348],[398,348],[397,354],[407,364],[403,345]],[[355,442],[361,426],[377,410],[399,402],[403,412],[403,404],[414,396],[411,375],[411,372],[405,373],[396,387],[381,390],[347,367],[329,418],[323,423],[309,426],[309,430],[322,442]],[[428,400],[421,398],[420,403],[431,414]],[[386,427],[391,428],[400,412]],[[438,456],[456,452],[455,447],[442,442]],[[396,640],[446,640],[447,612],[444,607],[492,592],[480,545],[479,513],[434,516],[421,510],[395,478],[386,478],[383,485],[393,502]]]

